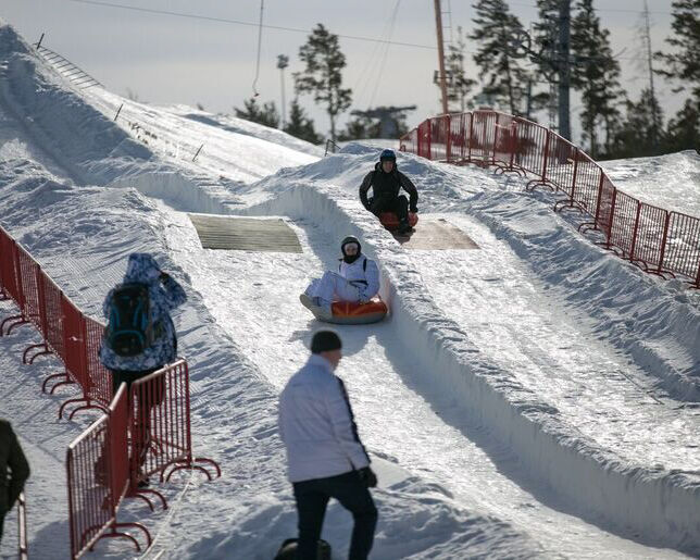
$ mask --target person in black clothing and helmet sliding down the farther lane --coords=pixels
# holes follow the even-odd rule
[[[367,198],[370,187],[374,194],[372,198]],[[410,200],[407,200],[404,195],[399,195],[401,188],[409,194]],[[396,212],[400,234],[411,231],[409,210],[418,211],[418,191],[411,179],[397,169],[393,150],[384,150],[374,171],[364,177],[360,186],[360,200],[362,206],[376,216],[382,212]]]

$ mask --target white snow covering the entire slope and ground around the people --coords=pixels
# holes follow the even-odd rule
[[[412,155],[399,165],[422,221],[443,217],[479,249],[407,251],[357,200],[376,154],[350,144],[318,159],[233,117],[79,94],[0,27],[0,223],[95,316],[134,250],[155,253],[189,294],[176,324],[193,441],[224,475],[183,475],[166,512],[127,503],[124,517],[157,535],[146,558],[268,559],[293,535],[276,396],[320,326],[298,294],[337,262],[346,234],[378,260],[391,308],[383,323],[339,328],[339,374],[379,474],[373,558],[700,555],[698,294],[605,253],[518,179]],[[690,158],[643,165],[676,155]],[[641,198],[645,181],[620,186]],[[676,181],[666,190],[700,199],[697,177]],[[202,249],[186,212],[283,216],[303,252]],[[65,448],[92,416],[57,420],[61,399],[39,391],[57,360],[21,364],[37,336],[0,338],[0,414],[34,470],[33,555],[57,558]],[[338,557],[350,525],[333,506],[324,538]],[[129,551],[101,543],[96,556]]]

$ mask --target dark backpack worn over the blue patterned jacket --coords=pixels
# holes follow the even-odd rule
[[[148,284],[121,284],[109,302],[104,343],[125,358],[138,356],[158,337],[153,323]]]

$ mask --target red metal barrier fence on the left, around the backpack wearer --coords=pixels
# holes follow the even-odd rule
[[[5,335],[15,326],[32,324],[43,339],[23,352],[23,361],[32,363],[38,356],[54,353],[64,365],[63,372],[45,379],[42,390],[50,381],[58,381],[51,393],[62,385],[80,388],[80,397],[61,405],[59,416],[68,405],[79,405],[70,418],[78,410],[105,412],[66,453],[71,557],[79,558],[105,537],[129,538],[140,550],[136,538],[118,531],[123,527],[143,531],[150,545],[150,534],[141,524],[116,521],[124,497],[142,498],[152,510],[145,496],[150,493],[166,508],[162,494],[140,487],[150,475],[158,474],[163,482],[180,469],[197,469],[211,480],[199,462],[213,466],[221,476],[216,462],[192,456],[187,362],[180,359],[135,382],[130,394],[122,385],[112,398],[111,375],[98,356],[104,326],[83,314],[1,226],[0,299],[14,300],[20,308],[20,314],[0,323],[0,335],[5,323]],[[21,534],[26,545],[26,523]]]

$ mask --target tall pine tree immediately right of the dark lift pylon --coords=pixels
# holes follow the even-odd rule
[[[610,32],[602,29],[592,0],[579,0],[578,13],[572,22],[571,47],[576,58],[572,69],[572,86],[580,92],[583,136],[589,152],[597,158],[612,149],[620,128],[618,105],[624,100],[620,86],[620,63],[612,55]],[[598,141],[598,127],[605,133],[604,149]]]

